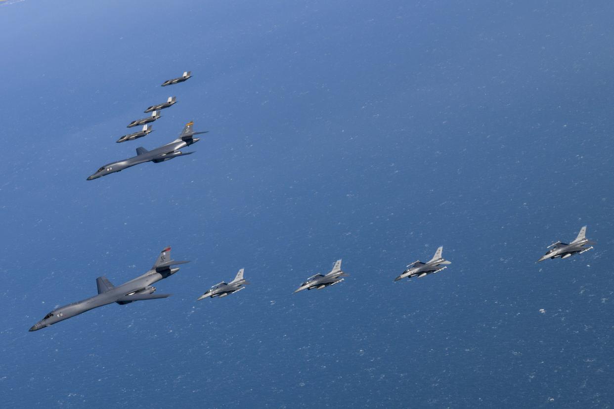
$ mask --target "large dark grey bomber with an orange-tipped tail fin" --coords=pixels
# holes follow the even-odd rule
[[[99,177],[106,176],[115,172],[120,172],[123,169],[126,169],[126,167],[131,167],[141,163],[160,163],[164,161],[169,161],[173,158],[177,158],[177,156],[190,155],[190,153],[194,153],[182,152],[180,151],[180,149],[188,147],[192,145],[192,143],[196,143],[200,140],[200,138],[195,138],[193,136],[206,134],[209,131],[193,132],[193,124],[193,122],[185,124],[183,132],[181,132],[179,138],[173,140],[173,142],[166,143],[166,145],[161,146],[159,148],[155,148],[151,151],[148,151],[146,148],[143,147],[136,148],[136,156],[133,156],[132,158],[128,159],[123,159],[123,161],[111,162],[109,164],[106,164],[100,169],[96,170],[96,173],[88,177],[87,180],[98,179]]]

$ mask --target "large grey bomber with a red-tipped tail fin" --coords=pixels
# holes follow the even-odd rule
[[[179,271],[179,267],[171,268],[171,266],[184,264],[186,262],[188,261],[172,260],[171,248],[168,247],[161,251],[160,256],[158,256],[151,270],[140,277],[134,278],[134,280],[130,280],[127,283],[115,287],[106,277],[98,277],[96,278],[96,286],[98,286],[97,296],[56,308],[45,315],[45,318],[41,319],[41,321],[34,324],[30,328],[30,331],[37,331],[41,328],[49,327],[50,325],[64,321],[64,319],[72,318],[75,315],[79,315],[93,308],[113,304],[114,302],[124,305],[134,301],[166,298],[171,294],[153,294],[155,287],[152,287],[152,284]]]

